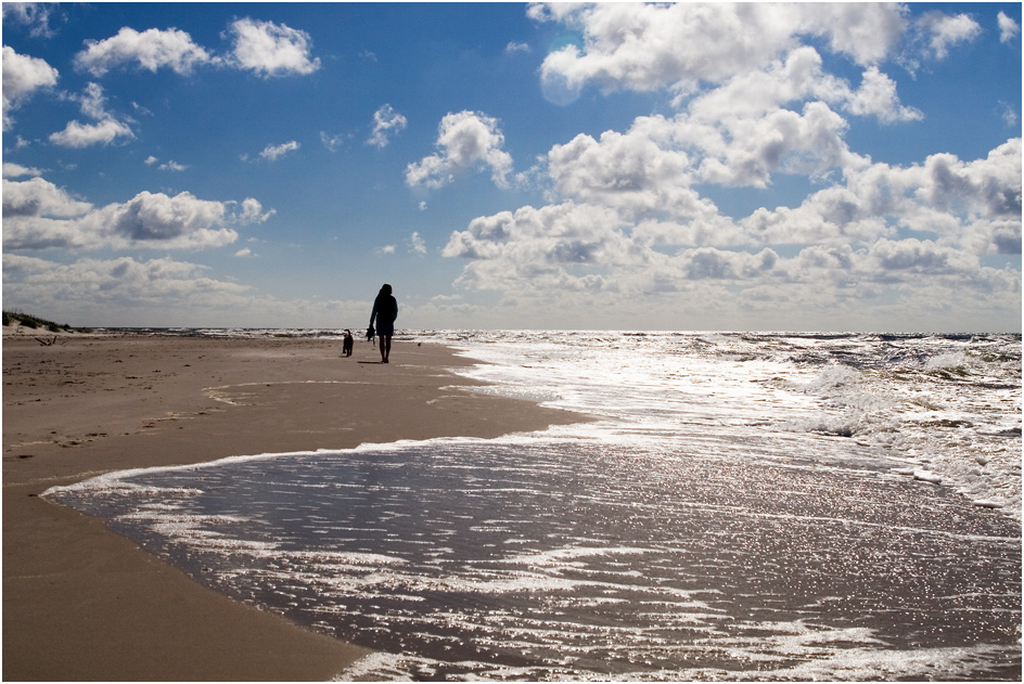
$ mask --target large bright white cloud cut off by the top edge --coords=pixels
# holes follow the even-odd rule
[[[764,68],[804,34],[825,36],[835,52],[872,65],[905,30],[898,5],[867,3],[553,4],[532,5],[529,15],[583,34],[581,47],[552,52],[541,65],[546,94],[560,103],[587,83],[686,94]]]

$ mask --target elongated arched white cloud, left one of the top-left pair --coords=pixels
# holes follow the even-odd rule
[[[216,63],[185,31],[150,28],[142,33],[128,26],[106,40],[87,40],[86,49],[75,55],[75,66],[93,76],[103,76],[123,65],[138,65],[156,72],[169,68],[176,74],[191,74],[196,66]]]

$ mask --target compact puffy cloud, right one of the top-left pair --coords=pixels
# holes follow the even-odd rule
[[[228,28],[232,37],[233,63],[259,76],[312,74],[320,68],[319,57],[310,59],[309,34],[284,24],[242,18]]]

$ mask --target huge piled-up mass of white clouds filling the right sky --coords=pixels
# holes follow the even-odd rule
[[[976,35],[969,17],[934,13],[910,25],[905,8],[853,3],[528,12],[583,36],[548,56],[543,87],[562,96],[588,85],[663,91],[678,112],[553,145],[534,170],[551,204],[478,217],[451,234],[443,255],[464,261],[458,286],[501,293],[501,306],[520,310],[552,292],[588,310],[661,298],[680,311],[699,300],[694,311],[720,301],[744,315],[766,306],[824,315],[869,298],[897,307],[936,296],[1019,308],[1020,272],[984,259],[1020,253],[1020,139],[985,158],[935,154],[904,166],[873,163],[846,142],[847,117],[923,117],[900,102],[882,62],[904,59],[908,44],[947,56]],[[808,36],[817,48],[801,44]],[[821,49],[859,65],[860,81],[830,73]],[[446,182],[428,172],[444,168],[445,155],[435,157],[410,165],[407,178]],[[780,175],[818,190],[797,206],[735,217],[703,194],[767,189]]]

